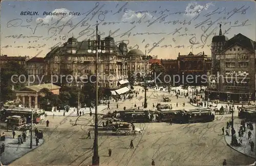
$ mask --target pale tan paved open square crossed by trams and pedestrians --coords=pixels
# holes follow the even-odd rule
[[[125,99],[117,103],[111,101],[111,111],[134,109],[134,105],[142,108],[144,93],[142,87],[135,87],[140,92],[136,98]],[[191,95],[191,94],[190,94]],[[169,97],[174,109],[195,109],[189,104],[189,99],[176,98],[173,92],[163,92],[156,89],[147,91],[148,108],[153,104],[164,103],[163,97]],[[182,106],[183,102],[185,107]],[[176,108],[176,103],[178,107]],[[101,113],[110,111],[104,109]],[[48,118],[48,117],[47,117]],[[72,126],[75,116],[49,117],[50,125],[39,124],[37,128],[44,131],[45,142],[40,147],[27,153],[10,165],[87,165],[92,163],[93,156],[93,128],[94,123],[90,115],[79,118],[79,124]],[[135,124],[145,127],[141,135],[114,136],[106,131],[99,131],[98,145],[100,165],[150,165],[152,159],[156,165],[221,165],[227,160],[228,165],[252,164],[254,159],[233,150],[222,135],[222,127],[230,120],[230,114],[216,115],[216,120],[210,123],[173,124],[147,123]],[[239,123],[239,119],[235,120]],[[101,125],[101,121],[99,122]],[[91,131],[92,139],[86,139]],[[255,134],[254,134],[255,135]],[[130,149],[133,139],[134,149]],[[111,147],[112,156],[108,156]],[[35,157],[36,156],[36,157]]]

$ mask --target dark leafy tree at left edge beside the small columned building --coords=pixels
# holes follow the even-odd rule
[[[19,89],[25,86],[27,83],[28,74],[24,66],[18,64],[15,61],[4,63],[0,70],[0,93],[2,101],[5,103],[8,100],[15,99],[15,94],[12,90],[12,87],[14,87],[14,89]],[[15,75],[17,75],[17,77],[13,77],[12,79],[12,76]]]

